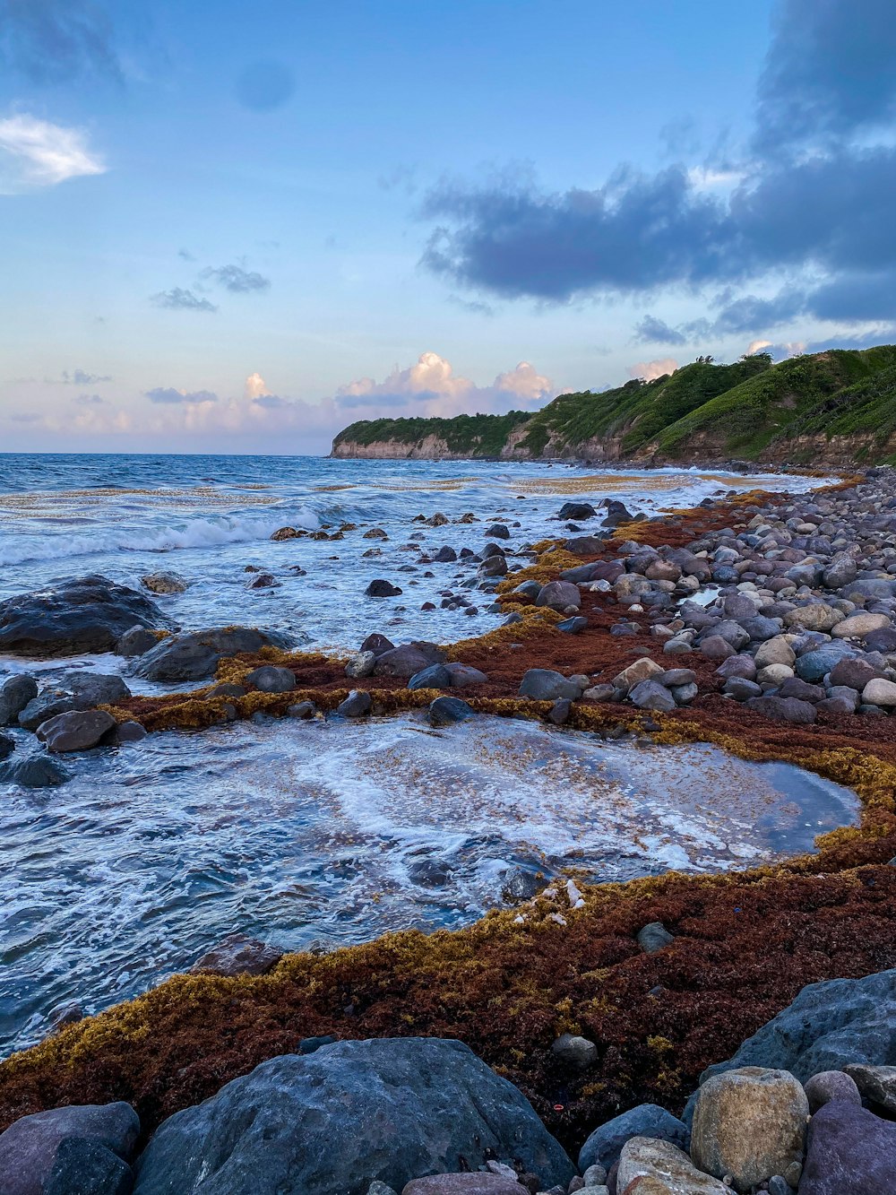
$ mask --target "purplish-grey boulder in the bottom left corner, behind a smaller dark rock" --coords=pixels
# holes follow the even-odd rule
[[[23,1116],[0,1135],[0,1191],[45,1195],[57,1151],[65,1141],[88,1142],[129,1162],[139,1133],[137,1114],[125,1103],[75,1104]],[[76,1178],[76,1171],[69,1173]],[[53,1189],[59,1195],[69,1190],[60,1187],[59,1181]],[[79,1188],[72,1190],[76,1193]]]

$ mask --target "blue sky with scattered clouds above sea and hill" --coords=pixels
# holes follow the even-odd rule
[[[0,451],[896,341],[892,0],[0,0]]]

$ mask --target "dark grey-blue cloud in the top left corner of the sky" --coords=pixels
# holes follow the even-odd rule
[[[112,23],[98,0],[0,0],[0,62],[36,84],[121,79]]]

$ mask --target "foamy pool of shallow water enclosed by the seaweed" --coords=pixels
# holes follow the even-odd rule
[[[232,930],[300,949],[459,926],[516,866],[717,871],[810,850],[857,813],[788,765],[487,717],[240,723],[70,765],[61,789],[0,788],[4,1049],[61,1003],[146,991]]]

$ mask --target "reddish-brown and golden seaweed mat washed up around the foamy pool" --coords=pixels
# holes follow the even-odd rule
[[[767,497],[784,502],[787,495]],[[745,505],[718,502],[627,525],[615,541],[637,535],[642,543],[683,544],[735,522]],[[544,583],[571,560],[589,559],[551,544],[539,547],[536,560],[515,572],[511,584]],[[508,592],[502,600],[509,609],[518,605]],[[589,629],[575,638],[554,630],[559,615],[540,609],[452,645],[452,660],[487,663],[490,682],[470,705],[544,718],[551,703],[516,695],[518,675],[533,661],[575,672],[588,657],[589,672],[609,670],[631,662],[638,649],[656,648],[648,636],[612,638],[608,626],[619,612],[610,613],[601,594],[589,594],[587,602]],[[288,660],[297,685],[288,694],[254,692],[226,701],[209,699],[214,686],[207,686],[111,709],[118,721],[136,719],[148,730],[198,728],[226,717],[228,703],[246,717],[258,710],[282,713],[301,700],[331,710],[346,695],[344,658],[275,649],[225,661],[215,684],[234,684],[259,663]],[[818,854],[773,866],[591,885],[584,907],[575,911],[565,908],[560,890],[527,907],[524,925],[515,920],[517,909],[498,911],[465,930],[404,932],[324,956],[286,956],[257,979],[174,976],[0,1064],[2,1124],[54,1103],[125,1098],[149,1129],[263,1058],[294,1049],[299,1037],[330,1032],[460,1036],[526,1092],[564,1141],[578,1140],[587,1124],[638,1099],[680,1105],[707,1062],[731,1053],[805,983],[896,963],[896,869],[888,866],[896,854],[896,742],[889,722],[851,717],[781,728],[719,697],[712,670],[710,662],[695,667],[701,695],[689,709],[645,713],[577,703],[567,725],[622,725],[657,742],[711,741],[747,759],[798,762],[855,789],[863,801],[859,827],[826,835]],[[438,695],[409,691],[398,678],[361,678],[352,687],[367,688],[374,712],[383,713]],[[565,925],[552,917],[558,901]],[[671,957],[637,951],[633,932],[653,920],[687,926],[687,951]],[[657,987],[662,994],[651,994]],[[612,1048],[600,1071],[571,1085],[564,1078],[560,1091],[550,1042],[581,1030]]]

